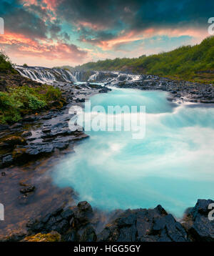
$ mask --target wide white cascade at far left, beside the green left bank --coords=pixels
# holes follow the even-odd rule
[[[44,67],[14,67],[19,74],[36,82],[53,84],[54,82],[77,82],[77,79],[66,69],[49,69]]]

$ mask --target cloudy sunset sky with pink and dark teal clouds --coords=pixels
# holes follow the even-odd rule
[[[15,64],[74,67],[198,44],[213,16],[213,0],[1,0],[0,47]]]

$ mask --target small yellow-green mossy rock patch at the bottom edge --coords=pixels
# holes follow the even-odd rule
[[[21,242],[60,242],[61,235],[56,231],[51,231],[48,234],[38,233],[36,235],[31,235],[29,237],[25,237]]]

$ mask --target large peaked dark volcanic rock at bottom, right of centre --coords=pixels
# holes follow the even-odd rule
[[[98,235],[106,242],[186,242],[185,229],[158,205],[153,210],[126,210]]]

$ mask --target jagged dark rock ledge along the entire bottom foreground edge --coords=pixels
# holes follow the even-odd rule
[[[214,220],[208,219],[213,200],[198,200],[178,222],[161,205],[154,209],[116,211],[103,223],[103,216],[88,202],[59,208],[39,220],[30,220],[26,232],[1,241],[70,242],[213,242]]]

